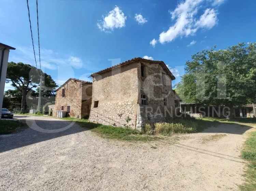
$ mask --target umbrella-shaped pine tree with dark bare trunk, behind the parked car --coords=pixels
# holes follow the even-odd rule
[[[22,94],[22,112],[27,112],[27,94],[30,90],[39,86],[40,75],[42,75],[43,89],[53,90],[57,87],[50,75],[43,73],[34,66],[21,62],[17,64],[14,62],[8,63],[6,82],[11,82],[12,86]]]

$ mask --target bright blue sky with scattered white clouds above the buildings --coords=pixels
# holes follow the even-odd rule
[[[35,0],[29,5],[37,45]],[[61,85],[147,56],[163,60],[175,84],[191,55],[255,42],[255,7],[254,0],[39,0],[42,68]],[[1,1],[0,29],[0,42],[16,48],[9,62],[35,65],[25,0]]]

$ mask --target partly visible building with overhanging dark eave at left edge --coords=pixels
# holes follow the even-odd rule
[[[3,104],[3,92],[6,79],[9,51],[15,48],[0,43],[0,118]]]

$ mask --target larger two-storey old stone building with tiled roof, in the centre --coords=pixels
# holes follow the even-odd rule
[[[91,74],[91,122],[141,129],[173,117],[175,79],[162,61],[133,58]]]

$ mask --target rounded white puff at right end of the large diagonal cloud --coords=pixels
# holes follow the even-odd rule
[[[204,11],[204,14],[200,16],[200,19],[196,22],[196,26],[200,28],[213,28],[218,22],[217,13],[212,8],[208,8]]]

